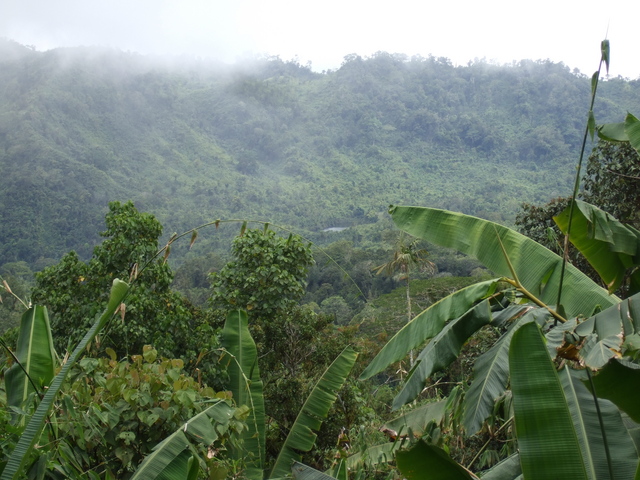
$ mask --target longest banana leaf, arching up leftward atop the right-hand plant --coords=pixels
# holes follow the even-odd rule
[[[546,305],[557,303],[562,259],[542,245],[509,228],[461,213],[424,207],[392,206],[393,221],[405,232],[480,260],[497,275],[511,277],[506,250],[521,284]],[[567,265],[562,304],[569,317],[591,315],[618,299]]]

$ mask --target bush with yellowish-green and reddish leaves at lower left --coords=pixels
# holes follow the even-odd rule
[[[111,354],[84,358],[71,371],[56,419],[66,445],[58,449],[77,472],[130,478],[158,443],[201,413],[216,393],[189,377],[182,360],[159,358],[150,346],[121,361]],[[201,458],[207,446],[200,448]]]

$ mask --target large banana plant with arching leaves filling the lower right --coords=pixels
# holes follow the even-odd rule
[[[572,241],[577,246],[582,243],[587,258],[602,265],[610,278],[608,284],[619,284],[622,277],[618,270],[635,262],[638,236],[632,230],[618,228],[615,219],[594,213],[591,206],[580,205],[578,209],[583,212],[584,225],[578,222]],[[531,479],[557,478],[557,472],[564,468],[558,467],[560,458],[571,464],[567,471],[572,478],[637,475],[638,454],[630,434],[637,425],[628,418],[623,423],[626,415],[631,416],[628,412],[638,413],[637,407],[629,400],[634,398],[631,391],[620,393],[616,383],[624,378],[635,381],[633,388],[639,386],[640,370],[618,358],[637,356],[640,309],[636,304],[640,295],[621,302],[568,265],[563,305],[558,307],[555,299],[562,259],[536,242],[492,222],[444,210],[391,207],[390,213],[407,233],[473,255],[501,276],[456,292],[415,317],[381,350],[362,377],[375,375],[417,344],[428,341],[394,399],[394,407],[399,408],[417,397],[432,373],[457,357],[473,333],[485,325],[501,325],[506,327],[505,333],[476,362],[474,380],[464,398],[464,425],[469,435],[478,431],[510,384],[519,454],[517,460],[510,458],[486,472],[486,478],[515,479],[522,474]],[[589,220],[597,222],[597,228],[589,226]],[[598,229],[601,234],[593,235]],[[595,242],[599,243],[594,248]],[[609,258],[618,258],[615,268],[607,267]],[[499,284],[509,286],[511,292],[496,288]],[[559,372],[554,360],[564,365]],[[586,376],[587,370],[593,382]],[[522,383],[523,378],[537,376],[541,383],[535,387]],[[590,393],[589,388],[596,393]],[[548,397],[552,393],[553,399]],[[560,410],[553,413],[550,405],[559,405]],[[545,416],[556,419],[549,423],[548,431],[541,427]],[[554,430],[558,426],[562,426],[561,431]],[[558,447],[556,439],[566,450]],[[433,445],[414,448],[422,451],[416,458],[425,460],[425,449],[432,451],[429,455],[434,461],[443,458]],[[552,454],[556,451],[564,453]],[[411,478],[410,470],[405,472],[402,467],[402,455],[397,455],[398,465]],[[554,460],[540,460],[547,456]],[[445,460],[447,464],[450,459]],[[439,471],[449,472],[446,465]],[[449,474],[452,478],[474,478],[464,469],[453,468]],[[440,477],[433,474],[422,478]]]

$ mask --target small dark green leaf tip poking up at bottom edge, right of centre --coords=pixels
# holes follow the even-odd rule
[[[420,440],[396,454],[398,469],[407,480],[470,480],[471,474],[442,449]],[[428,477],[427,477],[428,475]]]

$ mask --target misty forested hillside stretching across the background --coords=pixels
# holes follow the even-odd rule
[[[242,217],[313,235],[390,203],[508,223],[521,201],[568,194],[589,89],[550,62],[378,53],[319,74],[3,40],[0,265],[88,256],[111,200],[168,232]],[[598,122],[628,110],[639,81],[601,84]]]

